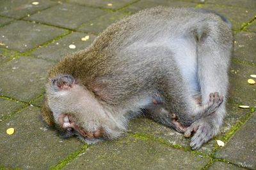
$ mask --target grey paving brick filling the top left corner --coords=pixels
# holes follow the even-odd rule
[[[34,13],[39,10],[44,10],[49,6],[56,4],[56,2],[49,0],[36,0],[36,2],[39,3],[37,5],[33,5],[33,2],[35,2],[35,0],[1,1],[0,15],[13,18],[22,18],[26,17],[31,13]]]

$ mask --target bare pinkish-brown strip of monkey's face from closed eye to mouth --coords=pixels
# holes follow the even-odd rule
[[[74,121],[70,119],[68,115],[63,115],[60,117],[60,124],[66,131],[76,131],[78,134],[83,136],[83,138],[93,139],[100,138],[103,136],[103,129],[97,129],[96,131],[89,132],[83,129],[83,127],[79,127]]]

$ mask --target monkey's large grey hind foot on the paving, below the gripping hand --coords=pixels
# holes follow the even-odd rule
[[[189,138],[195,132],[190,143],[193,150],[199,149],[204,143],[218,134],[221,124],[216,124],[216,122],[218,122],[218,118],[216,120],[216,114],[214,113],[197,120],[186,129],[184,132],[186,138]]]

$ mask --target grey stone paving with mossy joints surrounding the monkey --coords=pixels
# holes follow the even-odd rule
[[[255,0],[36,2],[0,0],[0,169],[256,169],[256,85],[247,83],[256,74]],[[220,134],[193,151],[190,139],[141,117],[115,141],[61,139],[40,115],[47,71],[90,45],[109,24],[158,5],[215,10],[232,22],[234,54]],[[13,135],[6,134],[10,127]]]

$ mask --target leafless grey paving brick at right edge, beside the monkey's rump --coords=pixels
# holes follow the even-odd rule
[[[256,64],[256,33],[239,32],[234,36],[234,59]]]

